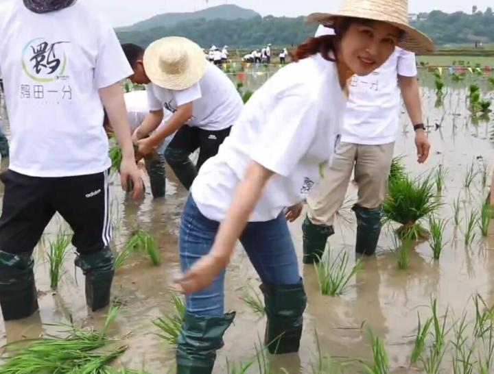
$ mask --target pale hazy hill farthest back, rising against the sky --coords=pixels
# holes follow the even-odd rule
[[[152,29],[154,27],[174,27],[178,23],[197,19],[204,19],[206,21],[211,21],[218,18],[235,20],[239,18],[247,19],[256,16],[259,16],[257,12],[240,8],[237,5],[219,5],[204,10],[199,10],[198,12],[158,14],[157,16],[149,18],[145,21],[135,23],[132,26],[121,27],[120,29],[117,29],[117,31],[140,32],[146,29]]]

